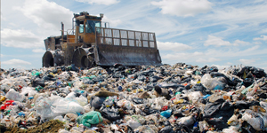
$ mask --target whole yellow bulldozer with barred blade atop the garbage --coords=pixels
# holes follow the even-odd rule
[[[160,66],[156,35],[151,32],[110,28],[88,12],[74,13],[72,28],[44,39],[43,67]]]

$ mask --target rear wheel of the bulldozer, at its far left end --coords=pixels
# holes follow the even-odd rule
[[[43,56],[43,67],[64,65],[62,51],[45,51]]]

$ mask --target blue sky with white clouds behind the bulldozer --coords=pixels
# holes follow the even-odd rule
[[[89,12],[112,28],[154,32],[163,64],[267,72],[265,0],[2,0],[1,67],[40,68],[44,39]]]

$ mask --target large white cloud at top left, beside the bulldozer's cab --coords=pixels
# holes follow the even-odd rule
[[[61,21],[64,22],[65,26],[71,27],[73,12],[54,2],[26,0],[21,7],[15,6],[13,9],[22,12],[28,19],[33,20],[44,29],[58,31],[61,29]]]

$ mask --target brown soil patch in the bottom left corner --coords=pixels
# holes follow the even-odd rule
[[[20,129],[19,127],[7,128],[4,133],[57,133],[59,129],[64,129],[63,125],[64,123],[61,121],[51,120],[31,129]]]

